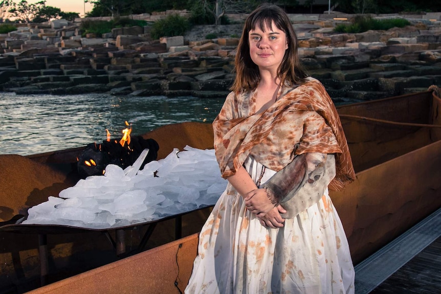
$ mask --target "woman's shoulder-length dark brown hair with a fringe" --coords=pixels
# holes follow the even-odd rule
[[[262,4],[245,20],[244,30],[237,46],[235,59],[236,79],[231,91],[241,92],[254,89],[260,81],[258,66],[251,60],[248,33],[258,26],[262,31],[271,28],[272,24],[286,34],[288,49],[285,51],[278,68],[278,76],[283,84],[296,85],[304,82],[307,77],[300,59],[297,56],[297,36],[286,13],[273,4]]]

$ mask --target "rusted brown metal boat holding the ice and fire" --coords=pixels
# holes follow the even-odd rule
[[[345,190],[331,193],[331,197],[348,237],[352,259],[357,264],[441,207],[441,99],[428,91],[343,105],[338,111],[357,178]],[[212,148],[213,142],[211,125],[203,123],[168,125],[143,137],[157,140],[160,158],[173,148],[185,145]],[[18,156],[16,160],[35,165],[32,166],[34,169],[47,168],[45,172],[53,173],[47,182],[40,181],[39,187],[32,184],[35,189],[28,188],[14,194],[21,199],[26,195],[26,199],[18,206],[10,207],[10,219],[2,220],[2,228],[15,227],[11,220],[17,214],[25,215],[28,207],[41,200],[33,200],[32,195],[42,197],[45,194],[47,197],[51,189],[61,190],[75,184],[75,178],[68,176],[72,173],[68,166],[75,163],[72,159],[78,152],[71,149],[21,156],[23,158],[0,155],[0,170],[8,168],[5,162],[9,157]],[[27,177],[32,183],[33,177],[37,178],[33,175]],[[9,195],[2,193],[2,199]],[[196,232],[208,213],[209,209],[189,214],[183,220],[183,227],[187,225],[195,232],[187,230],[182,239],[165,242],[40,287],[32,293],[180,293],[185,288],[196,256]],[[173,227],[174,223],[168,223],[167,227],[170,226]],[[15,233],[0,230],[0,234],[9,234],[5,236],[11,238]],[[58,241],[62,242],[65,236],[58,236]],[[75,244],[72,238],[70,241]],[[50,250],[52,256],[57,254],[55,247],[53,245]],[[19,253],[11,248],[10,252],[0,252],[0,256],[6,259],[7,255]],[[56,257],[52,258],[55,262]]]

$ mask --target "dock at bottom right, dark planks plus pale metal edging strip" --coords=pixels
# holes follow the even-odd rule
[[[356,294],[441,294],[441,208],[355,270]]]

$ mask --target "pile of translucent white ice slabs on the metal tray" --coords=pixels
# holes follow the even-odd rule
[[[214,205],[227,186],[214,150],[184,150],[174,149],[142,170],[148,150],[125,170],[108,165],[104,175],[80,179],[59,197],[30,208],[22,223],[118,228]]]

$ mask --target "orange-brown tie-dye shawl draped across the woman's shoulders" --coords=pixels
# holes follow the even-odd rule
[[[333,130],[341,153],[336,153],[335,146],[329,147],[326,144],[327,138],[319,138],[314,146],[308,147],[307,150],[297,149],[295,153],[336,153],[336,176],[328,186],[330,190],[341,190],[355,179],[349,148],[337,109],[318,80],[308,78],[304,84],[292,89],[270,108],[259,114],[239,117],[237,109],[233,108],[234,106],[226,103],[213,122],[214,149],[223,177],[226,178],[236,173],[236,170],[247,159],[251,149],[261,143],[273,128],[277,128],[278,123],[283,122],[280,118],[285,111],[298,110],[315,111],[323,117],[326,124]],[[226,116],[225,113],[229,115]],[[223,119],[225,117],[231,119]]]

